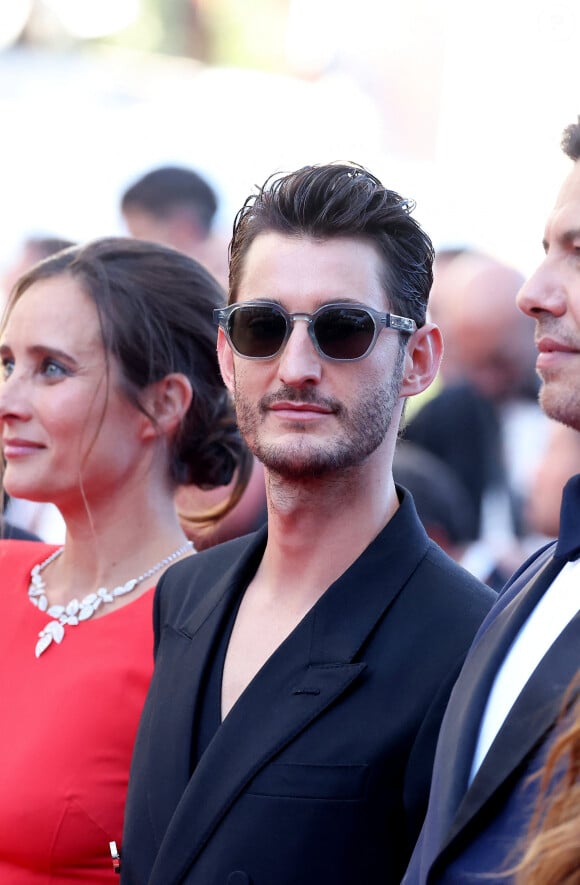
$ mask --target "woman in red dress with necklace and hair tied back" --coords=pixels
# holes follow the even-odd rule
[[[218,369],[223,303],[197,262],[123,238],[60,252],[13,290],[4,483],[54,502],[67,531],[62,547],[0,541],[3,883],[116,881],[153,588],[194,552],[175,487],[235,474],[231,506],[251,466]]]

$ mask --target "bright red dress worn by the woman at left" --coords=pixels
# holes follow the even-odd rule
[[[0,882],[118,883],[109,842],[120,849],[153,670],[153,589],[37,659],[49,618],[28,599],[30,570],[54,549],[0,541]]]

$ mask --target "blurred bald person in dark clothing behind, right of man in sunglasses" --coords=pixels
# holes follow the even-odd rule
[[[516,306],[523,281],[470,249],[436,262],[430,304],[445,336],[441,391],[406,428],[471,491],[479,538],[463,564],[498,588],[526,557],[523,502],[548,428],[537,402],[533,321]]]

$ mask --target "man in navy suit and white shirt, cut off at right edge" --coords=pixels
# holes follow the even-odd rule
[[[573,161],[544,234],[545,259],[518,295],[536,321],[540,404],[580,431],[580,118]],[[580,475],[565,489],[557,543],[524,563],[484,622],[451,695],[429,810],[405,885],[511,881],[554,738],[580,669]]]

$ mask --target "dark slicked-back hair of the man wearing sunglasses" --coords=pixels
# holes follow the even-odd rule
[[[411,217],[412,200],[388,190],[354,163],[304,166],[273,175],[236,216],[230,243],[229,301],[236,301],[243,265],[255,238],[266,231],[327,240],[358,237],[382,258],[388,308],[425,322],[433,282],[433,244]]]

